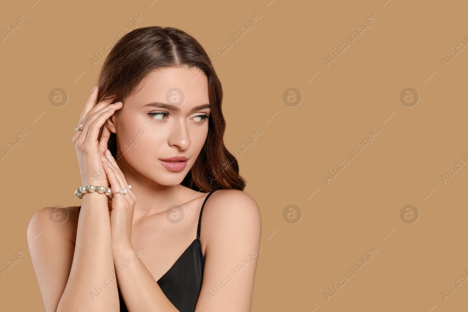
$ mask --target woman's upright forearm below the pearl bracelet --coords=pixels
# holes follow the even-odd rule
[[[118,311],[108,197],[83,195],[73,263],[57,311]],[[113,281],[113,282],[112,282]]]

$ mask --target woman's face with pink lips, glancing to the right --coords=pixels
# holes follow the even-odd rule
[[[124,174],[133,171],[142,180],[141,174],[161,185],[180,184],[208,134],[208,80],[199,69],[168,67],[155,70],[143,83],[123,103],[117,121],[112,117],[116,160]],[[178,156],[187,160],[162,161]]]

